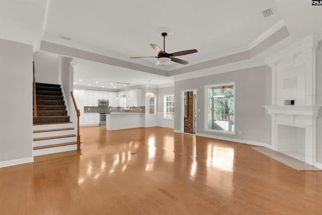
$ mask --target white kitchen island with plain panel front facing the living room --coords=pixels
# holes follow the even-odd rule
[[[144,127],[144,113],[110,113],[106,114],[106,130]]]

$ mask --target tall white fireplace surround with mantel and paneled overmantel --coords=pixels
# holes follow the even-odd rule
[[[272,105],[265,106],[272,119],[272,150],[283,153],[286,145],[288,149],[294,147],[291,151],[301,155],[290,156],[312,166],[316,166],[316,117],[321,107],[316,105],[316,48],[320,39],[318,34],[310,35],[266,58],[272,69]]]

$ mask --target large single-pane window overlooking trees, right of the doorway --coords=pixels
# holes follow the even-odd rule
[[[234,83],[206,86],[206,130],[234,133]]]

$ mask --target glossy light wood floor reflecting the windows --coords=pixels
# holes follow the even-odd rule
[[[0,214],[322,213],[322,172],[249,145],[161,127],[82,127],[81,138],[81,152],[0,168]]]

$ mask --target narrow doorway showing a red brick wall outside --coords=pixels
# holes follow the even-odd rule
[[[195,134],[197,132],[197,90],[182,91],[182,132]]]

